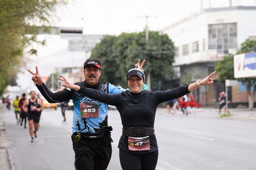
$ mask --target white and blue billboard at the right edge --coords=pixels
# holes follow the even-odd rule
[[[234,55],[234,78],[256,78],[256,52]]]

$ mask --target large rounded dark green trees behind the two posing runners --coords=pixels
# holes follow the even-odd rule
[[[174,55],[175,47],[168,35],[150,31],[148,42],[145,32],[106,36],[92,50],[90,58],[98,58],[102,62],[102,81],[126,88],[126,73],[135,68],[138,59],[141,62],[146,60],[143,69],[146,76],[150,71],[152,86],[159,80],[171,80]]]

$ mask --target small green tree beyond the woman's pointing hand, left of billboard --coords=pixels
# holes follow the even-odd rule
[[[226,79],[234,80],[234,55],[224,56],[222,60],[215,63],[214,69],[219,75],[219,82],[225,82]]]

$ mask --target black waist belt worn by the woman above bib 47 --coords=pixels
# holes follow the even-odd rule
[[[154,127],[146,128],[146,127],[130,127],[123,128],[123,135],[132,136],[132,137],[145,137],[145,136],[153,136],[155,135]]]

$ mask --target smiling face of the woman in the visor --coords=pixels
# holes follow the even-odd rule
[[[138,75],[131,75],[128,78],[128,86],[133,93],[139,93],[142,91],[143,80]]]

